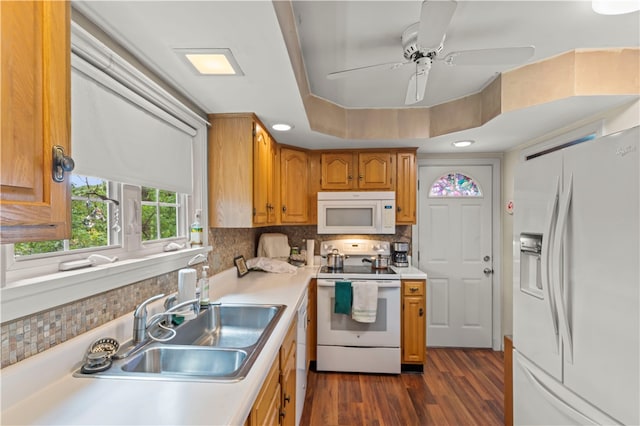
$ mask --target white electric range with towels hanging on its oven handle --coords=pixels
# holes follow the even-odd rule
[[[331,269],[323,261],[317,274],[318,371],[400,373],[400,277],[391,268],[376,269],[363,259],[389,256],[386,241],[344,239],[324,241],[323,259],[337,249],[343,267]],[[374,286],[377,306],[374,322],[335,313],[335,283]]]

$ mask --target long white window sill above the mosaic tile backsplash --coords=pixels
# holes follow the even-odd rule
[[[4,323],[75,300],[186,268],[187,262],[211,247],[153,254],[138,259],[58,272],[16,281],[0,290],[0,322]]]

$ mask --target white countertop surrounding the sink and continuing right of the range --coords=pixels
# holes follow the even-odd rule
[[[127,314],[55,348],[0,370],[1,424],[243,424],[317,267],[295,274],[235,268],[210,278],[210,298],[222,303],[284,304],[284,311],[247,376],[234,383],[73,377],[98,338],[131,338]],[[395,268],[402,279],[426,279],[415,268]],[[150,315],[162,302],[150,306]]]

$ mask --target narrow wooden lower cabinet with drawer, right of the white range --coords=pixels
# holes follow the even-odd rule
[[[402,281],[402,364],[424,365],[427,351],[426,336],[426,281]]]

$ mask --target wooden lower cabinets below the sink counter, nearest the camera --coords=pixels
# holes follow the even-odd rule
[[[296,423],[296,331],[293,321],[280,352],[253,403],[245,426],[293,425]]]

